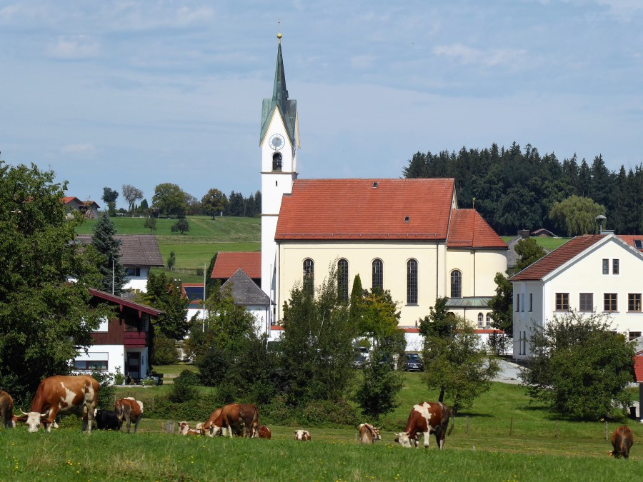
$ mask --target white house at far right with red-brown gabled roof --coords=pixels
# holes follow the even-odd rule
[[[577,236],[509,278],[514,358],[530,356],[532,327],[568,311],[604,313],[630,340],[643,332],[643,236]]]

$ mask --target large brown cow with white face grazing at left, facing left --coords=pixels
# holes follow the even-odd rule
[[[31,411],[22,412],[20,419],[26,421],[29,432],[37,432],[41,423],[51,432],[59,413],[75,413],[83,418],[83,431],[91,433],[98,391],[99,383],[89,375],[50,376],[40,382]]]

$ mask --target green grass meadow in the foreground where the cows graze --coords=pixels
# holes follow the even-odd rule
[[[167,370],[177,368],[184,366]],[[504,383],[494,383],[473,408],[458,414],[443,451],[434,438],[429,450],[404,449],[393,443],[394,432],[402,430],[414,403],[436,399],[424,388],[422,374],[404,377],[400,406],[387,417],[390,428],[374,446],[357,445],[357,427],[304,427],[312,441],[301,443],[291,439],[297,426],[271,426],[270,441],[194,438],[161,433],[165,421],[144,418],[136,435],[93,431],[87,436],[69,418],[52,433],[27,433],[24,426],[0,430],[0,479],[605,481],[638,480],[643,473],[638,444],[627,461],[609,458],[604,423],[557,418],[529,403],[521,386]],[[123,387],[119,396],[150,403],[168,388]],[[609,423],[609,433],[622,423]],[[634,439],[642,440],[643,425],[630,421],[629,426]]]

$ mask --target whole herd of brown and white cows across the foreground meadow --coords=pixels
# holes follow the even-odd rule
[[[29,432],[36,432],[40,426],[46,431],[57,427],[56,417],[61,414],[76,414],[83,418],[83,431],[91,432],[96,421],[99,429],[120,430],[126,423],[127,433],[134,423],[134,433],[139,428],[143,414],[143,403],[131,397],[121,398],[114,404],[114,410],[96,410],[99,383],[88,375],[50,376],[41,381],[29,413],[14,414],[14,401],[6,391],[0,390],[0,420],[5,428],[15,428],[16,422],[25,422]],[[449,418],[451,427],[449,428]],[[396,434],[395,441],[403,447],[418,447],[419,437],[424,436],[424,447],[429,448],[429,438],[434,434],[438,448],[444,448],[444,439],[454,428],[454,413],[441,402],[423,402],[414,405],[407,425]],[[447,430],[448,429],[448,430]],[[229,403],[216,408],[203,423],[190,428],[187,422],[179,422],[181,435],[194,436],[239,436],[249,438],[271,438],[270,429],[259,425],[259,410],[252,403]],[[297,441],[310,441],[309,431],[294,431]],[[379,429],[370,423],[359,426],[359,441],[371,444],[382,440]],[[629,449],[634,443],[632,430],[620,426],[612,435],[613,451],[610,456],[629,458]]]

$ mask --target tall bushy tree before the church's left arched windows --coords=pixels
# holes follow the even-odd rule
[[[291,405],[344,396],[353,376],[352,341],[355,328],[348,321],[348,303],[337,293],[337,271],[319,288],[296,285],[284,303],[284,334],[279,344],[282,376]]]

